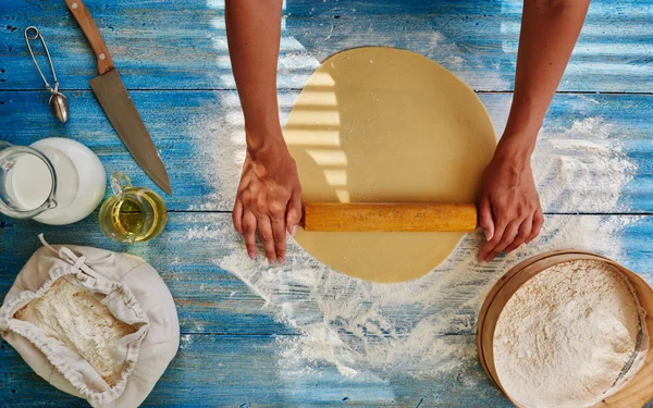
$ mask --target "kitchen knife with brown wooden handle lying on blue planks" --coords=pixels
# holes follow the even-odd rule
[[[107,118],[143,170],[165,193],[172,194],[170,178],[168,178],[161,157],[113,65],[107,45],[90,13],[81,0],[65,0],[65,3],[77,20],[98,59],[100,76],[90,81],[90,87],[100,101]]]

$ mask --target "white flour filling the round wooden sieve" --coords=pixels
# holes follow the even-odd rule
[[[593,406],[641,368],[641,329],[637,297],[615,268],[594,260],[554,265],[517,289],[500,316],[500,382],[525,407]]]

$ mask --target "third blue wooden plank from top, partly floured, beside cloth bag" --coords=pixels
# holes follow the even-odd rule
[[[414,297],[423,297],[420,301],[387,305],[380,301],[381,312],[401,326],[398,336],[409,333],[428,317],[439,321],[438,334],[473,334],[480,304],[490,286],[526,256],[550,249],[588,249],[615,257],[653,284],[652,228],[653,217],[631,220],[617,215],[550,215],[541,237],[530,247],[483,264],[475,261],[480,235],[470,234],[449,260],[429,276],[414,286],[396,287],[397,293],[409,290]],[[96,217],[65,228],[0,219],[0,301],[22,265],[40,246],[37,239],[40,232],[51,244],[128,251],[148,260],[176,300],[183,333],[294,334],[297,331],[287,324],[288,319],[305,324],[320,322],[324,319],[324,305],[356,296],[362,296],[361,304],[378,300],[366,298],[357,280],[345,279],[334,284],[329,270],[295,244],[289,246],[288,259],[282,268],[270,268],[260,257],[257,262],[246,260],[244,244],[233,231],[227,213],[171,213],[161,236],[133,246],[106,238]],[[291,271],[303,271],[305,280],[293,281],[297,272]],[[234,274],[252,283],[254,288]],[[263,287],[256,283],[260,276],[279,283]],[[270,305],[264,306],[264,300]],[[293,314],[285,313],[284,307],[289,307]]]

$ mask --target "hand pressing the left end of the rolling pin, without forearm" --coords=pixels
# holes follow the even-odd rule
[[[234,227],[245,237],[249,258],[256,258],[258,227],[270,264],[285,260],[286,231],[295,235],[301,219],[301,187],[297,165],[283,139],[247,150],[233,218]]]

